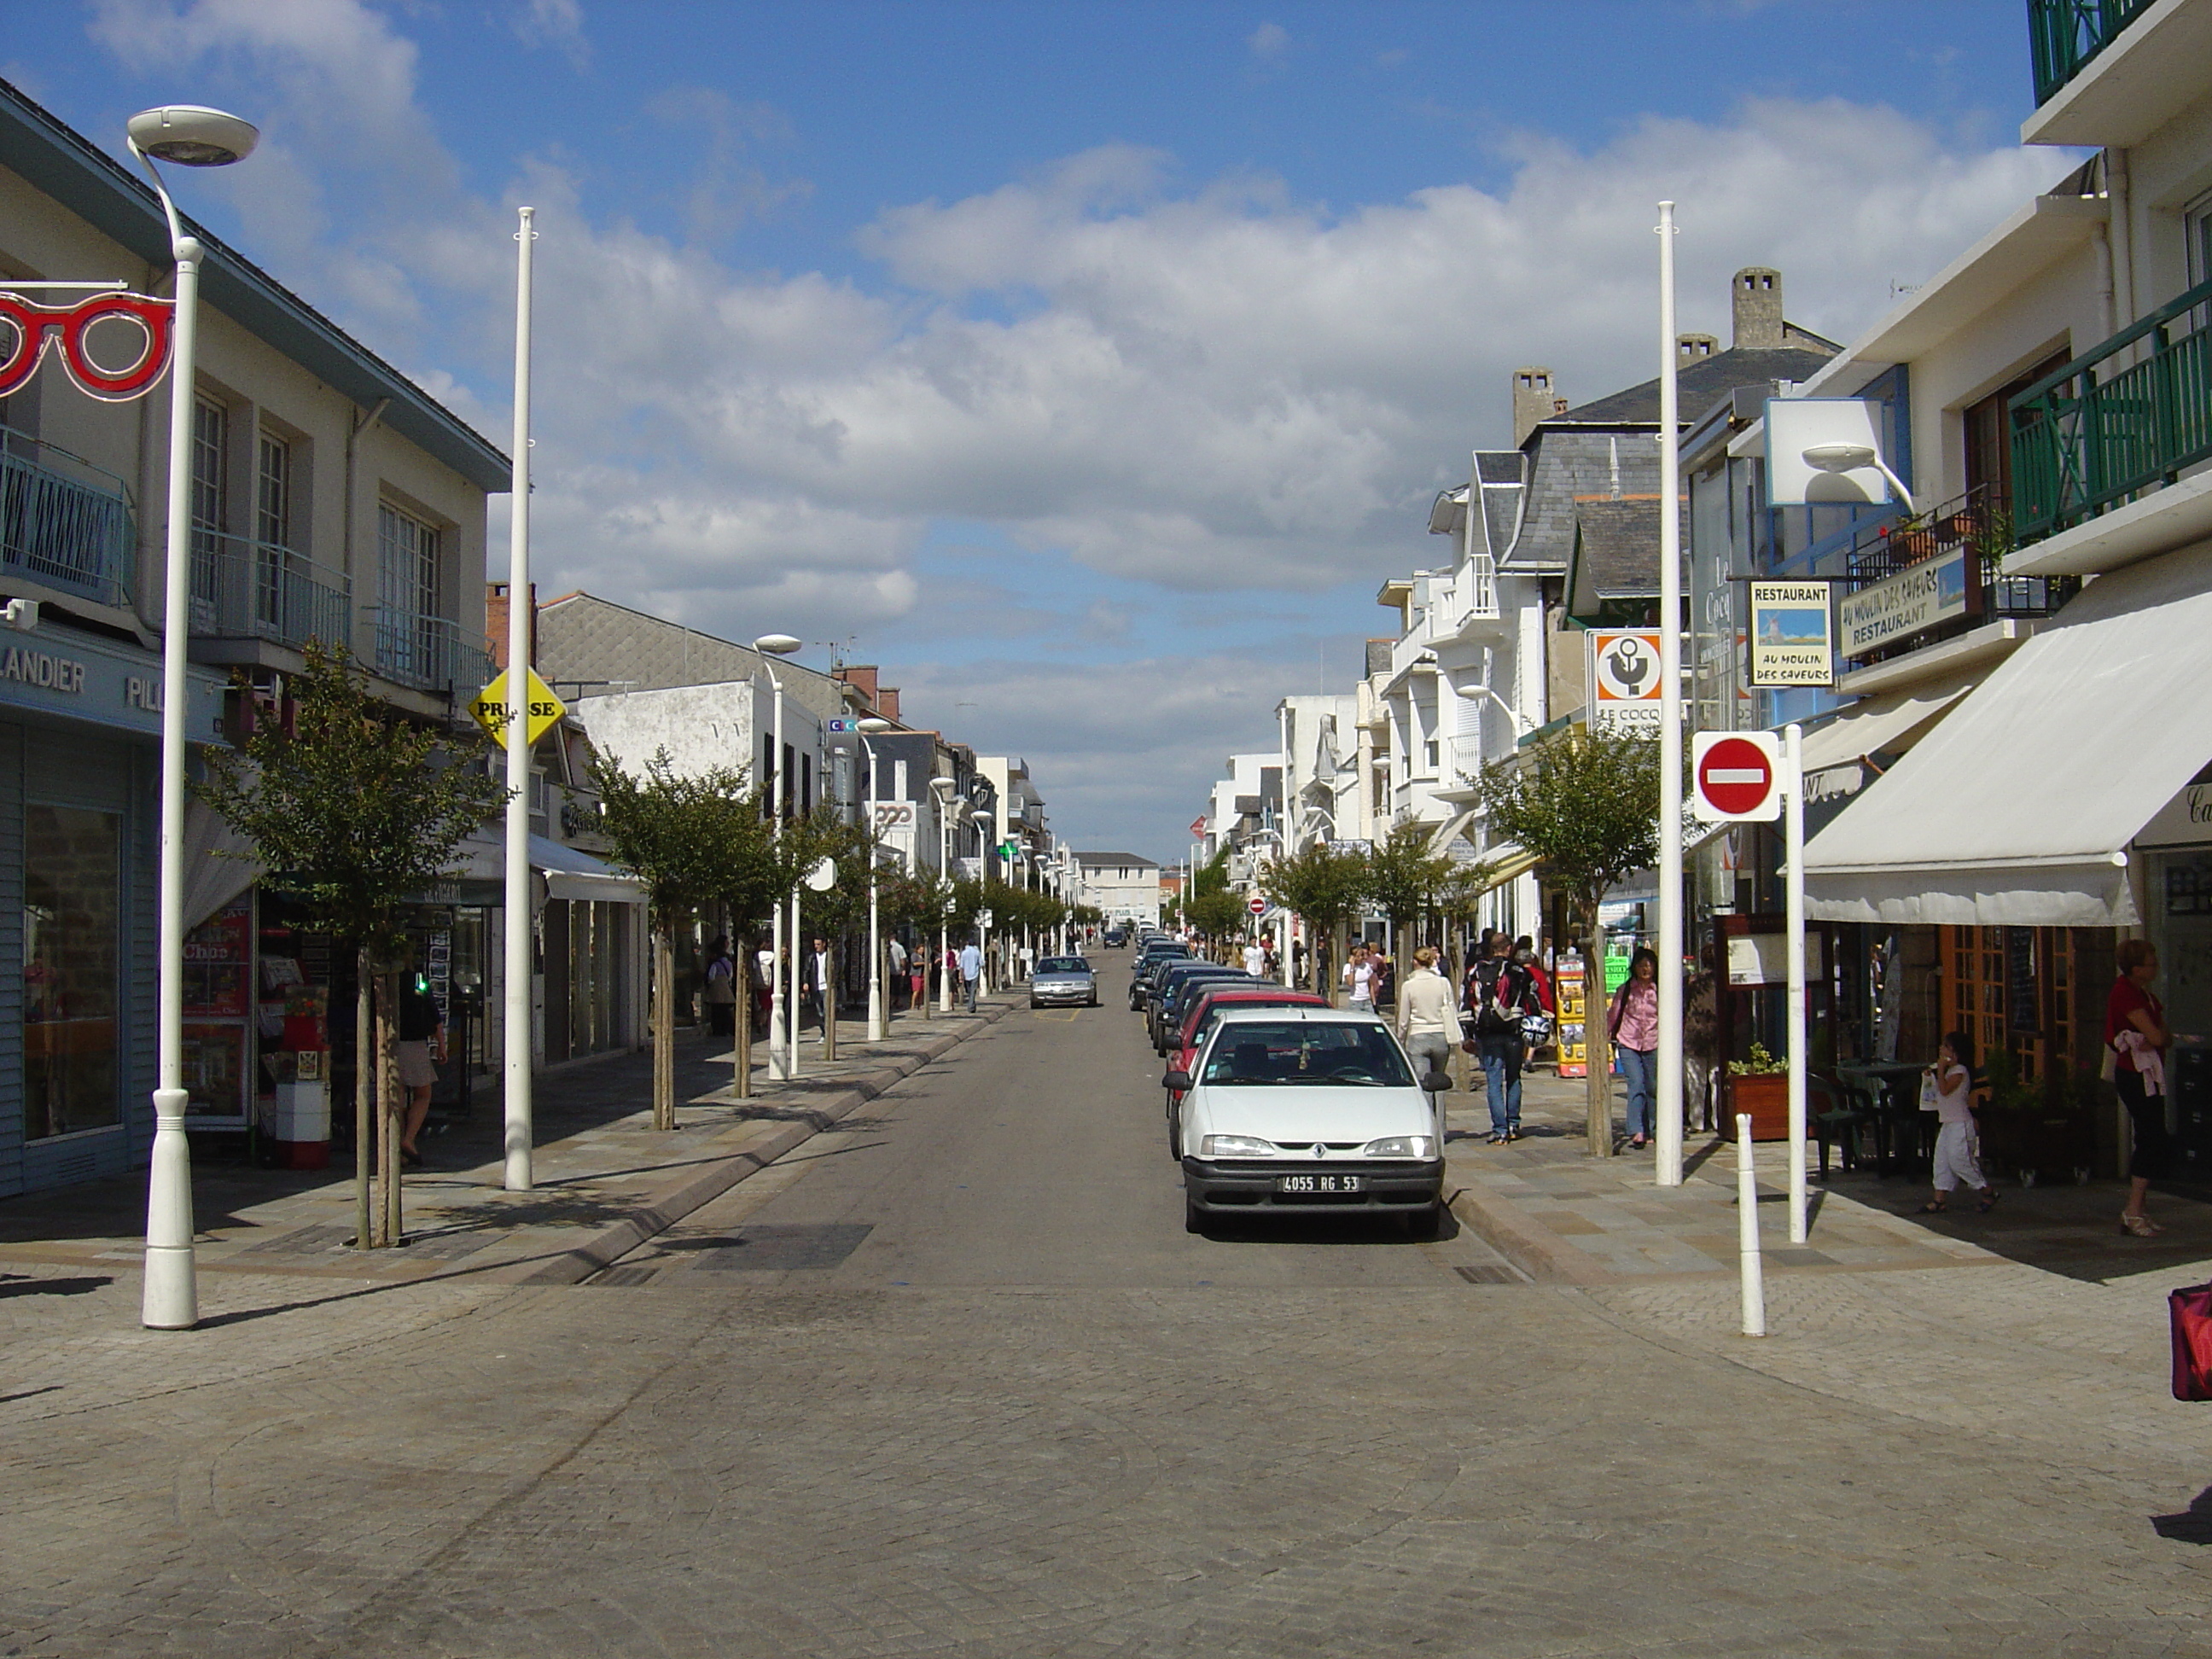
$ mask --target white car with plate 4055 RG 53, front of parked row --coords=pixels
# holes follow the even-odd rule
[[[1442,1223],[1442,1108],[1371,1013],[1230,1009],[1181,1088],[1183,1223],[1228,1214],[1402,1214]]]

